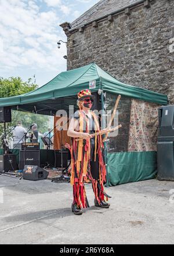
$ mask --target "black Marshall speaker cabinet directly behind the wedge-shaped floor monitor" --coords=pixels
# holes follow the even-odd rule
[[[26,165],[40,166],[40,151],[39,150],[26,150],[26,162],[24,162],[25,150],[19,152],[19,169],[24,169]]]

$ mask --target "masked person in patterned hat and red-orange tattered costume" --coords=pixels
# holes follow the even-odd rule
[[[74,113],[68,128],[68,136],[72,137],[71,146],[71,184],[73,185],[74,214],[82,214],[82,208],[89,207],[84,182],[90,180],[95,194],[95,206],[108,208],[108,195],[104,192],[106,167],[103,158],[103,142],[97,116],[90,111],[94,95],[90,90],[78,93],[79,111]]]

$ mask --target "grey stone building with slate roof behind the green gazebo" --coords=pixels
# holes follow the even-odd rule
[[[96,62],[124,83],[168,94],[174,104],[173,16],[173,0],[100,0],[60,25],[67,69]]]

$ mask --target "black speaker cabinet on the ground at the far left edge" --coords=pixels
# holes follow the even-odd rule
[[[5,154],[0,155],[0,171],[1,172],[8,172],[17,169],[16,163],[16,155],[15,154]]]

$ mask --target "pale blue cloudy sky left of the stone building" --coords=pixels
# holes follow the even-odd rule
[[[66,41],[59,26],[73,22],[99,0],[0,0],[0,76],[35,74],[39,86],[66,70]]]

